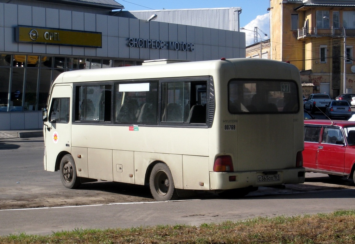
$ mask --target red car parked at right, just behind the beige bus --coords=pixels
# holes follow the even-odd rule
[[[304,135],[306,171],[355,181],[355,121],[305,120]]]

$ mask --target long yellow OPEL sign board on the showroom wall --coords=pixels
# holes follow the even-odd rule
[[[17,42],[102,48],[101,32],[19,25],[15,37]]]

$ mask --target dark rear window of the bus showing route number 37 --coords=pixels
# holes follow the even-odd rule
[[[243,113],[297,113],[300,110],[294,81],[243,81],[228,84],[228,110]]]

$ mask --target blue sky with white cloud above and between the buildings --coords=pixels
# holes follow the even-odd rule
[[[241,7],[240,27],[245,32],[246,46],[254,43],[254,27],[258,27],[258,34],[262,40],[270,36],[269,13],[270,0],[115,0],[125,7],[124,11],[160,10],[160,9],[207,9],[217,7]],[[251,31],[247,31],[251,30]],[[260,31],[261,30],[261,31]],[[258,42],[260,42],[258,35]]]

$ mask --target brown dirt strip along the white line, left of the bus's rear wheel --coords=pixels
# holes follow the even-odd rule
[[[63,186],[53,190],[47,187],[22,187],[18,184],[13,189],[0,187],[0,195],[0,209],[155,201],[148,187],[115,182],[82,184],[79,189],[66,189]]]

